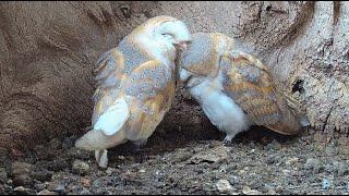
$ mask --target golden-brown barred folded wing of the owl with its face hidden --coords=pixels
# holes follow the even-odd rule
[[[222,59],[222,61],[228,61]],[[227,63],[226,63],[227,64]],[[278,90],[267,68],[254,57],[240,53],[222,66],[225,93],[257,125],[291,135],[300,131],[296,101]]]

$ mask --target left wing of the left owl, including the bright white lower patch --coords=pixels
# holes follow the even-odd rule
[[[127,77],[123,54],[117,49],[106,51],[94,70],[97,88],[94,94],[95,108],[92,119],[94,130],[106,135],[119,131],[130,115],[130,109],[121,96],[121,83]]]

